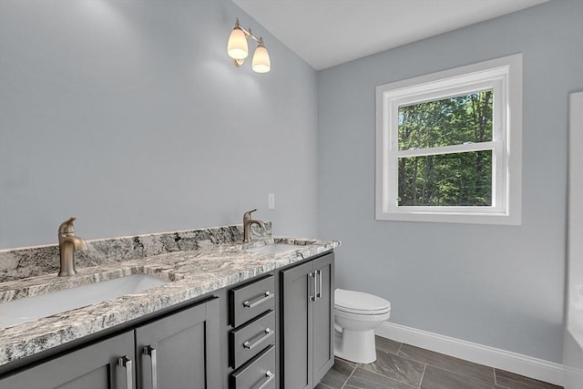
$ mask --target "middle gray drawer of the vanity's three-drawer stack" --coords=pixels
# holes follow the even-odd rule
[[[238,368],[265,347],[275,344],[275,312],[268,311],[229,333],[230,367]]]

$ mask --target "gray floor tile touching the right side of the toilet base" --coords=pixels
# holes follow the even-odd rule
[[[376,362],[359,365],[359,368],[368,372],[384,375],[402,384],[419,386],[424,363],[377,350]]]

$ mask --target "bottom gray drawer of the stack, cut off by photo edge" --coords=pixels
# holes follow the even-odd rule
[[[275,346],[230,374],[230,389],[275,389]]]

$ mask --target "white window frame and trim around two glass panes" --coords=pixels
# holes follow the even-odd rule
[[[398,149],[398,109],[441,98],[494,91],[492,140],[436,148]],[[492,150],[492,206],[399,206],[402,157]],[[521,223],[522,55],[413,77],[376,87],[376,220]]]

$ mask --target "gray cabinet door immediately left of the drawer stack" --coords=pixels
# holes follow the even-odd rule
[[[138,327],[138,388],[220,388],[219,331],[219,299]]]

